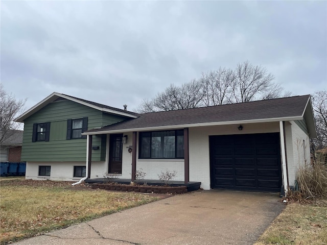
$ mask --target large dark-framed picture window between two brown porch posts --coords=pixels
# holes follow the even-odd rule
[[[184,158],[184,131],[139,133],[139,158]]]

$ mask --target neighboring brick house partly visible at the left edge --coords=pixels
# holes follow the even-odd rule
[[[23,131],[10,131],[10,137],[0,146],[0,162],[20,162]]]

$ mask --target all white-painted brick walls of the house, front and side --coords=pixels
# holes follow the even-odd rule
[[[209,136],[228,134],[253,134],[279,132],[278,122],[261,124],[243,124],[243,130],[238,130],[239,125],[198,127],[189,129],[190,138],[190,181],[200,181],[203,189],[210,189],[210,161],[209,161]],[[120,178],[131,178],[132,154],[128,148],[132,145],[132,133],[124,133],[128,136],[127,143],[123,144],[123,167]],[[287,159],[290,185],[294,185],[295,171],[298,164],[304,164],[303,139],[305,140],[307,162],[310,163],[309,137],[294,122],[286,122],[285,137],[287,147]],[[109,149],[109,137],[108,137]],[[138,144],[138,142],[137,142]],[[108,149],[107,158],[103,162],[92,162],[91,178],[102,178],[108,171]],[[137,145],[138,149],[138,145]],[[138,156],[138,150],[137,150]],[[138,158],[138,157],[137,157]],[[86,161],[86,159],[85,159]],[[39,165],[51,165],[50,178],[38,177]],[[74,166],[86,165],[85,162],[27,162],[27,179],[52,179],[73,180]],[[158,179],[161,171],[176,170],[175,180],[184,180],[184,160],[137,160],[136,169],[147,173],[146,179]],[[79,180],[80,178],[74,178]]]

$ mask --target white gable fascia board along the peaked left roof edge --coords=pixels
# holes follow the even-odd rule
[[[34,114],[35,112],[37,112],[38,110],[40,110],[42,107],[48,105],[49,103],[54,102],[55,100],[58,99],[58,97],[62,97],[63,99],[66,99],[66,100],[69,100],[69,101],[73,101],[73,102],[79,103],[81,105],[84,105],[84,106],[87,106],[87,107],[91,107],[91,108],[94,108],[94,109],[99,110],[99,111],[108,112],[108,113],[111,113],[111,114],[116,114],[116,115],[131,117],[131,118],[137,118],[138,117],[138,116],[135,116],[135,115],[132,115],[132,114],[128,114],[128,113],[124,113],[124,112],[120,112],[120,111],[115,111],[115,110],[111,110],[111,109],[107,109],[107,108],[102,108],[102,107],[94,106],[94,105],[88,104],[86,102],[83,102],[83,101],[74,99],[74,98],[72,98],[70,96],[67,96],[67,95],[64,95],[64,94],[61,94],[61,93],[57,93],[57,92],[53,92],[48,97],[46,97],[44,100],[40,101],[35,106],[33,106],[31,109],[27,110],[26,112],[24,112],[23,114],[21,114],[20,116],[18,116],[17,118],[15,118],[15,121],[17,121],[17,122],[24,122],[24,119],[26,119],[30,115]]]

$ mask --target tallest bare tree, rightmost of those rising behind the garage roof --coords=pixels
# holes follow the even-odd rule
[[[262,66],[253,66],[249,61],[239,63],[235,69],[233,97],[235,102],[267,100],[278,97],[283,88],[272,81],[274,76]]]

